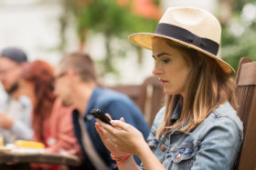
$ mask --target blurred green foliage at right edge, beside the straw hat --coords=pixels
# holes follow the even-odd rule
[[[241,6],[235,5],[231,22],[222,28],[221,55],[237,70],[241,57],[248,56],[252,60],[256,60],[256,21],[255,19],[251,22],[244,21],[242,11],[244,11],[244,6],[248,4],[244,4],[244,1],[236,1]],[[239,29],[232,30],[234,25],[239,26]],[[239,34],[240,30],[241,34]]]

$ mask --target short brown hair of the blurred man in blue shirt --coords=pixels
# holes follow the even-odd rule
[[[73,52],[64,55],[60,61],[61,72],[73,70],[84,82],[97,81],[97,73],[91,56],[84,52]]]

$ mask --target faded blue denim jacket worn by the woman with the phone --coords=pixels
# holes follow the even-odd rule
[[[165,108],[162,108],[155,117],[147,143],[165,169],[227,170],[234,167],[243,139],[243,126],[229,102],[210,113],[192,132],[172,131],[157,140],[155,133],[164,115]],[[180,105],[177,105],[172,119],[179,115]]]

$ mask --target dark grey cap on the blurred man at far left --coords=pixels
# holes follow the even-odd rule
[[[17,47],[6,47],[1,51],[0,54],[2,57],[9,58],[14,62],[20,64],[23,62],[27,62],[27,55],[26,53]]]

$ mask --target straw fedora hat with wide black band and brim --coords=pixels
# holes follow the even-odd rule
[[[234,69],[217,56],[220,36],[219,21],[207,10],[196,7],[170,7],[160,19],[155,33],[136,33],[128,38],[134,45],[150,50],[153,37],[172,40],[214,58],[226,73],[234,74]]]

